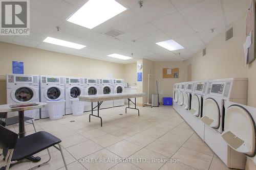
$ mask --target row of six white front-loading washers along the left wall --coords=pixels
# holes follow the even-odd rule
[[[114,86],[115,82],[115,86]],[[123,79],[94,79],[63,76],[38,76],[7,74],[7,103],[47,102],[65,100],[65,112],[72,114],[71,102],[79,95],[122,93]],[[123,100],[105,101],[100,109],[123,106]],[[93,103],[93,106],[97,106]],[[91,111],[91,103],[84,104],[84,111]],[[16,115],[16,112],[8,116]],[[48,108],[25,111],[34,119],[48,118]]]

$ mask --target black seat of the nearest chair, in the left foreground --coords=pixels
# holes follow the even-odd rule
[[[45,131],[25,136],[18,139],[12,155],[12,161],[22,160],[60,142],[59,138]]]

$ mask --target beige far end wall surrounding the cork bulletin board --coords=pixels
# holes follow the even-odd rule
[[[179,78],[176,79],[163,79],[162,69],[163,68],[179,68]],[[155,62],[155,74],[156,80],[158,81],[158,90],[160,94],[160,101],[163,97],[173,98],[173,86],[175,83],[187,81],[187,64],[181,62]]]

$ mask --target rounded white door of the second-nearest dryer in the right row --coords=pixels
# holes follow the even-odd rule
[[[216,100],[208,98],[204,101],[203,117],[201,120],[204,124],[218,129],[220,127],[220,108]]]

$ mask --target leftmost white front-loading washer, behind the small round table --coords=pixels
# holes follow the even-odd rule
[[[39,102],[39,80],[37,75],[7,74],[7,104]],[[18,112],[8,114],[16,116]],[[39,109],[25,111],[25,116],[39,119]]]

